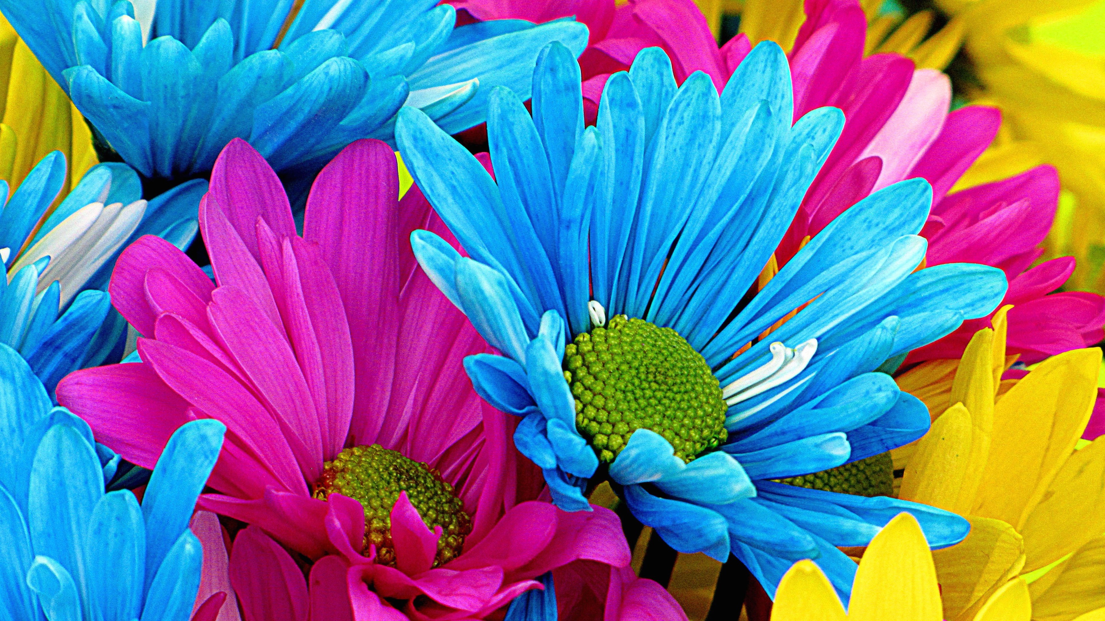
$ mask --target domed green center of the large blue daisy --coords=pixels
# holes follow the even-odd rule
[[[672,328],[617,315],[577,336],[564,368],[576,427],[602,462],[612,462],[638,429],[663,435],[684,462],[727,438],[717,378]]]

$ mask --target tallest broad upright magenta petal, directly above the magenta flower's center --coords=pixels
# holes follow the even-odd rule
[[[399,179],[391,148],[358,140],[318,173],[304,220],[304,239],[318,243],[345,305],[357,391],[351,433],[371,443],[391,385],[399,313],[397,234]],[[370,286],[366,286],[370,283]]]

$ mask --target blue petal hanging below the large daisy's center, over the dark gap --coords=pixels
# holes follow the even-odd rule
[[[691,503],[657,498],[640,485],[627,485],[622,497],[633,517],[651,526],[669,546],[684,554],[705,552],[724,562],[729,557],[729,533],[725,518]]]

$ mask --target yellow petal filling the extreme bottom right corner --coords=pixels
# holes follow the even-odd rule
[[[1102,568],[1105,568],[1105,535],[1094,537],[1066,562],[1029,585],[1035,617],[1069,619],[1072,614],[1105,607],[1105,571]],[[1105,615],[1101,619],[1105,621]]]

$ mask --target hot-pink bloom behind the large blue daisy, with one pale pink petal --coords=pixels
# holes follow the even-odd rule
[[[612,0],[578,0],[570,6],[516,0],[453,3],[481,19],[548,19],[569,10],[586,15],[591,40],[579,60],[588,122],[593,122],[610,74],[628,70],[643,48],[657,45],[669,53],[677,84],[703,71],[718,91],[749,50],[745,34],[718,50],[692,0],[634,0],[617,9]],[[929,244],[926,265],[970,262],[1006,272],[1010,287],[1004,302],[1015,305],[1010,315],[1012,352],[1034,362],[1105,337],[1105,298],[1046,295],[1074,271],[1072,259],[1030,269],[1043,253],[1041,244],[1055,217],[1059,181],[1053,169],[1035,168],[1010,179],[990,171],[982,178],[992,182],[948,194],[994,139],[1000,123],[996,109],[968,106],[949,114],[951,88],[946,75],[916,69],[912,60],[894,53],[864,57],[867,21],[855,0],[807,0],[804,21],[801,2],[749,2],[741,20],[754,41],[775,38],[789,52],[794,120],[821,106],[841,108],[846,119],[776,253],[778,265],[873,191],[919,177],[933,187],[932,214],[919,233]],[[951,43],[958,36],[954,34],[949,31],[928,49],[916,51],[920,66],[940,66],[937,56],[950,59],[948,51],[954,53]],[[899,49],[895,45],[886,49]],[[1011,230],[1017,234],[1006,233]],[[958,358],[981,325],[962,326],[908,362]]]

